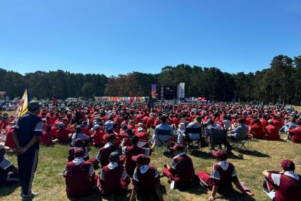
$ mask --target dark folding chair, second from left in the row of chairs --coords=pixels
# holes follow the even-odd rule
[[[188,134],[198,134],[198,139],[191,139]],[[202,127],[186,127],[185,131],[185,141],[186,141],[186,151],[192,152],[192,151],[200,151],[202,152]]]

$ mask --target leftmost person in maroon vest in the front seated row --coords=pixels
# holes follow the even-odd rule
[[[93,165],[85,161],[84,150],[77,149],[74,160],[67,163],[64,170],[66,192],[68,197],[84,197],[90,195],[96,186],[98,175]]]

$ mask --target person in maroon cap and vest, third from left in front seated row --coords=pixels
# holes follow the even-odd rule
[[[134,201],[137,195],[142,200],[163,200],[159,185],[160,175],[156,166],[149,166],[150,159],[144,154],[132,156],[132,160],[137,163],[132,178],[132,194],[130,201]]]

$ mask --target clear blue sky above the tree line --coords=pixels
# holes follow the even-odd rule
[[[0,1],[0,68],[21,73],[249,72],[278,54],[301,55],[300,0]]]

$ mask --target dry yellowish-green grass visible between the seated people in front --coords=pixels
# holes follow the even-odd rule
[[[67,146],[56,145],[55,147],[41,147],[38,170],[35,173],[33,190],[40,193],[35,200],[68,200],[65,193],[64,178],[62,171],[66,163]],[[291,142],[268,142],[264,140],[254,140],[251,142],[250,152],[244,153],[244,159],[238,159],[237,151],[234,151],[229,161],[234,163],[237,168],[239,180],[246,183],[255,194],[255,200],[268,200],[268,197],[262,192],[261,184],[263,178],[261,172],[264,169],[280,169],[280,161],[283,159],[292,159],[297,162],[301,160],[301,144]],[[255,151],[256,150],[256,151]],[[96,149],[91,149],[91,156],[96,156]],[[207,171],[210,173],[215,159],[208,154],[208,148],[203,149],[203,153],[198,156],[192,156],[195,171]],[[16,164],[16,155],[8,153],[6,155]],[[163,154],[154,152],[152,163],[161,171],[164,163],[170,163],[171,159]],[[301,166],[296,166],[296,172],[301,173]],[[186,192],[179,190],[170,190],[166,178],[161,178],[161,184],[166,193],[165,200],[207,200],[209,191],[204,188],[192,188]],[[0,200],[18,200],[20,187],[5,187],[0,189]],[[128,198],[128,196],[127,196]],[[93,193],[90,197],[76,200],[100,200],[98,193]],[[110,200],[126,200],[125,197],[112,197]],[[217,200],[251,200],[244,197],[241,193],[232,193],[229,197],[217,197]]]

